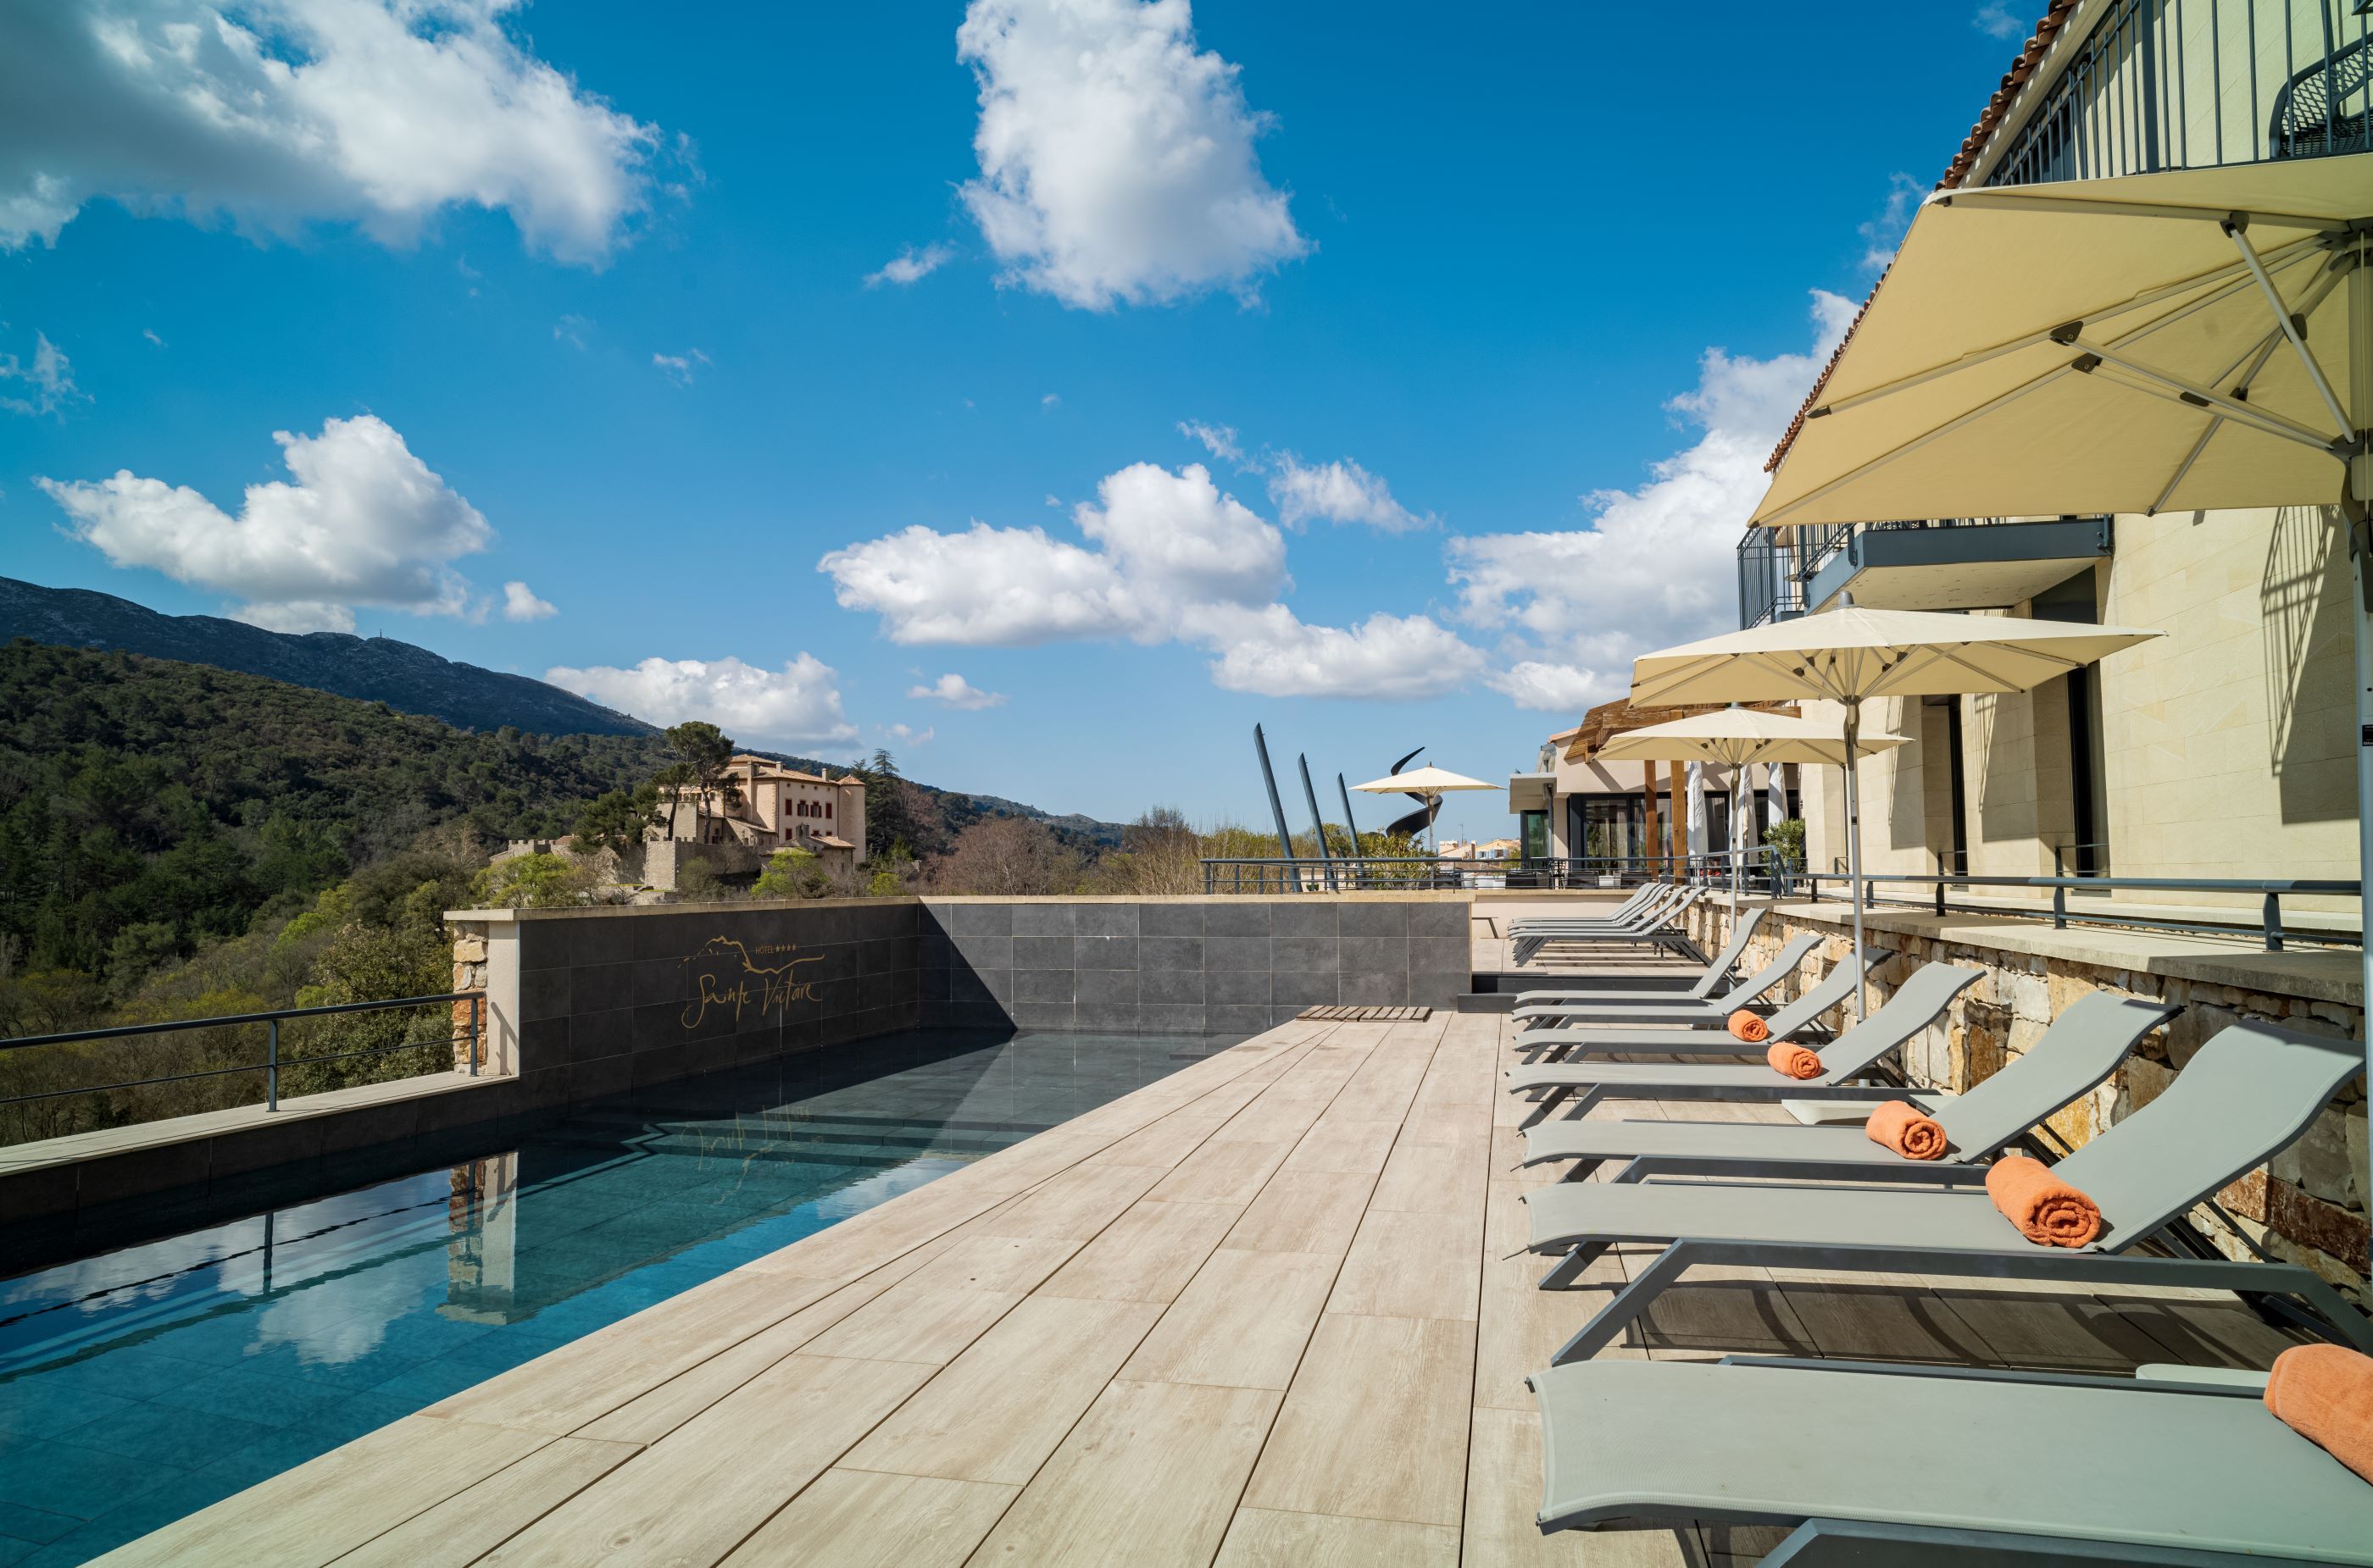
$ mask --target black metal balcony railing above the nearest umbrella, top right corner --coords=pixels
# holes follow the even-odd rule
[[[1986,185],[2373,149],[2373,7],[2114,0]]]

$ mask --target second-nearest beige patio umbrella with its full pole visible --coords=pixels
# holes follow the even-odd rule
[[[1860,958],[1863,804],[1853,764],[1868,750],[1863,702],[2027,690],[2155,636],[2126,626],[1844,605],[1642,655],[1633,662],[1630,700],[1637,707],[1777,697],[1844,705],[1846,875],[1853,882],[1853,954]],[[1863,987],[1856,987],[1856,1018],[1863,1001]]]

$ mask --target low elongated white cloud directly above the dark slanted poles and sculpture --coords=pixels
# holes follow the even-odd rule
[[[1476,676],[1483,655],[1424,614],[1372,614],[1353,629],[1305,626],[1284,605],[1198,610],[1220,657],[1210,678],[1262,697],[1433,697]]]

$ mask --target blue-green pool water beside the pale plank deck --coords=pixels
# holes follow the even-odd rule
[[[0,1568],[88,1561],[1220,1044],[916,1032],[785,1056],[5,1279]]]

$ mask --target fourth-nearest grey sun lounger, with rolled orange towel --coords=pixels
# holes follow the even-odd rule
[[[1846,958],[1839,970],[1849,970]],[[1832,975],[1822,977],[1827,984]],[[1896,987],[1896,994],[1870,1018],[1853,1025],[1827,1046],[1820,1046],[1818,1077],[1784,1077],[1770,1063],[1545,1063],[1538,1067],[1514,1067],[1507,1075],[1509,1094],[1538,1094],[1540,1103],[1521,1122],[1538,1127],[1550,1113],[1566,1105],[1569,1117],[1583,1117],[1599,1101],[1891,1101],[1903,1089],[1889,1084],[1865,1084],[1882,1056],[1908,1041],[1943,1013],[1955,996],[1977,984],[1979,970],[1951,963],[1925,963],[1913,977]],[[1694,1030],[1666,1030],[1666,1037],[1692,1034]],[[1647,1030],[1642,1030],[1647,1034]],[[1754,1051],[1732,1034],[1730,1053]],[[1666,1046],[1628,1046],[1630,1051],[1661,1051]],[[1704,1046],[1701,1056],[1718,1056],[1720,1046]],[[1569,1103],[1571,1101],[1571,1103]]]

